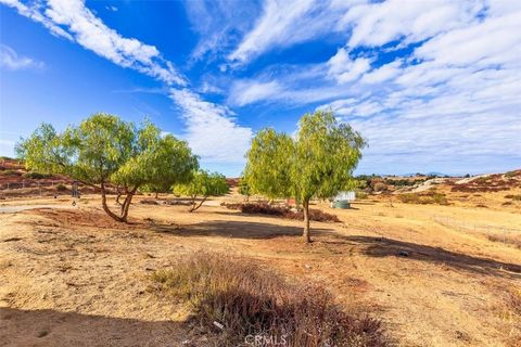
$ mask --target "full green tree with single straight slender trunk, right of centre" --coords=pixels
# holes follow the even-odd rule
[[[287,143],[290,141],[291,144]],[[353,170],[365,145],[360,133],[340,124],[331,112],[305,114],[295,140],[270,129],[256,136],[246,155],[247,182],[260,194],[294,196],[302,203],[303,236],[310,242],[310,200],[329,198],[339,191],[355,188]]]

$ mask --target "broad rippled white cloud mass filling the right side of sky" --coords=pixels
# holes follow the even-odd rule
[[[472,165],[475,171],[499,156],[521,159],[521,3],[391,0],[336,15],[334,30],[345,30],[346,41],[333,56],[313,73],[293,66],[237,80],[230,103],[322,102],[318,108],[334,111],[368,138],[363,168],[377,172],[447,163],[453,171]],[[295,21],[314,16],[303,12]],[[290,25],[278,36],[293,31]],[[382,63],[390,51],[394,60]]]

